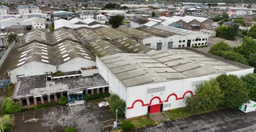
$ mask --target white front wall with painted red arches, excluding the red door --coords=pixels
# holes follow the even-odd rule
[[[227,74],[241,76],[252,72],[253,68],[240,71],[232,71],[228,72]],[[216,78],[218,75],[220,74],[128,87],[126,118],[145,115],[148,112],[148,106],[154,104],[168,104],[168,107],[164,107],[163,110],[184,107],[186,106],[184,102],[186,97],[191,97],[192,94],[195,95],[196,86],[192,86],[192,82],[207,81],[210,78]],[[148,89],[156,87],[165,87],[165,90],[155,93],[147,93]]]

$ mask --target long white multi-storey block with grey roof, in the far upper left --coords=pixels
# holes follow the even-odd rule
[[[17,7],[20,15],[29,14],[29,13],[42,13],[42,10],[36,5],[24,6],[20,5]]]

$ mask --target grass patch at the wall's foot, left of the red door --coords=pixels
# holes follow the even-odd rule
[[[155,123],[154,120],[152,120],[150,117],[146,115],[136,117],[136,118],[131,118],[126,121],[131,122],[134,125],[134,128],[141,128],[143,126],[152,125]]]

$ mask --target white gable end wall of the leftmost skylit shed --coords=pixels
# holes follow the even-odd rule
[[[43,75],[44,72],[46,71],[52,71],[54,73],[57,71],[56,66],[32,61],[28,64],[25,64],[16,69],[13,69],[12,71],[9,71],[8,75],[10,75],[12,83],[16,83],[17,82],[16,75],[24,74],[23,76],[20,76],[20,77],[28,77],[28,76],[35,76],[35,75]]]

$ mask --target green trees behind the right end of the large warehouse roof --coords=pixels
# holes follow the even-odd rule
[[[242,45],[238,47],[230,47],[223,41],[216,43],[208,53],[256,68],[256,41],[252,37],[244,37]]]

